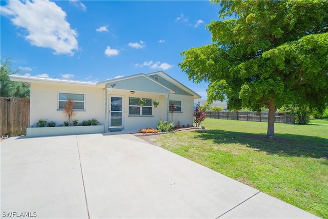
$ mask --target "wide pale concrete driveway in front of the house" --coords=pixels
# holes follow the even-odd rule
[[[1,217],[314,218],[131,134],[1,142]]]

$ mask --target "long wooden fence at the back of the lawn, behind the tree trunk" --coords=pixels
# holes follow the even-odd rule
[[[269,112],[248,112],[248,111],[204,111],[207,118],[219,118],[221,120],[242,120],[268,122]],[[293,115],[276,113],[275,123],[295,124]]]

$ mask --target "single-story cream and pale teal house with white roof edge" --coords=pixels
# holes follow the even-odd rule
[[[200,98],[197,93],[162,71],[103,82],[19,74],[9,75],[9,78],[31,88],[30,127],[35,127],[39,120],[54,121],[57,126],[63,125],[67,121],[64,113],[67,99],[74,101],[74,120],[79,123],[92,119],[99,121],[102,130],[98,128],[94,132],[156,128],[160,119],[172,120],[171,103],[176,106],[173,113],[174,124],[179,122],[181,126],[187,126],[193,124],[194,99]],[[144,106],[139,105],[140,98],[146,101]],[[159,102],[159,105],[154,106],[153,101]],[[29,132],[31,130],[27,130],[27,136]]]

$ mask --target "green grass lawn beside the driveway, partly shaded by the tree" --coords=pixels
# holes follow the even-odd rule
[[[161,135],[163,148],[264,193],[328,218],[328,126],[207,118],[206,130]]]

